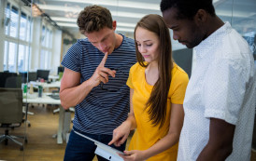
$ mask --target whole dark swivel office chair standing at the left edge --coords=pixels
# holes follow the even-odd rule
[[[5,127],[5,134],[0,136],[0,142],[14,141],[21,146],[23,143],[16,139],[23,139],[27,142],[25,136],[12,136],[8,133],[8,128],[21,127],[23,121],[22,113],[22,90],[21,88],[0,88],[0,127]]]

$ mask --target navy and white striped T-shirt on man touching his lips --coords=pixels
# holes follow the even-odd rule
[[[135,64],[135,41],[123,36],[121,46],[108,55],[105,67],[117,71],[107,84],[93,87],[76,106],[74,127],[90,134],[112,135],[113,129],[126,120],[130,110],[130,89],[126,86],[130,67]],[[91,78],[104,54],[89,40],[80,39],[64,56],[64,67],[81,73],[80,83]]]

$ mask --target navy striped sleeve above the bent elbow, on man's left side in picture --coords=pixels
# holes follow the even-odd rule
[[[75,72],[80,72],[80,54],[82,53],[82,47],[79,42],[71,46],[62,61],[62,65]]]

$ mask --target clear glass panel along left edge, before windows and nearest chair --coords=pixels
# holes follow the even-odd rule
[[[31,54],[31,7],[0,1],[0,160],[25,160],[27,76]]]

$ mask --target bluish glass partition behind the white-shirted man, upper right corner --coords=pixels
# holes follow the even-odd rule
[[[216,6],[216,13],[221,20],[229,21],[232,27],[246,39],[255,59],[256,1],[222,0]]]

